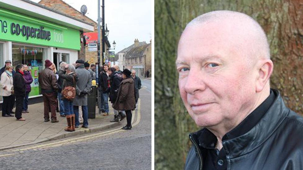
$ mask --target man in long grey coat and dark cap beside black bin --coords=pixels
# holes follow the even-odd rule
[[[75,112],[75,128],[79,127],[79,106],[82,106],[83,125],[82,128],[88,128],[88,108],[87,108],[87,94],[92,86],[92,76],[90,72],[84,68],[84,60],[78,59],[76,61],[76,73],[79,81],[76,85],[76,97],[74,99]]]

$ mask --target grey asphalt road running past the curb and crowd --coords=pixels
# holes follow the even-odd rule
[[[146,81],[148,80],[143,80],[142,85],[144,82],[147,86]],[[149,82],[151,84],[151,81]],[[141,115],[141,119],[132,130],[120,130],[118,127],[117,130],[112,129],[111,133],[106,131],[104,134],[89,134],[96,134],[95,137],[83,135],[25,146],[6,151],[7,155],[1,151],[0,169],[149,170],[152,168],[151,96],[148,88],[140,90],[140,114],[137,111],[135,118]]]

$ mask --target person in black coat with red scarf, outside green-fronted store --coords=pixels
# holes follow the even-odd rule
[[[24,121],[22,118],[22,106],[25,97],[25,80],[23,78],[23,64],[16,66],[16,73],[13,76],[14,94],[16,96],[16,111],[15,117],[18,121]]]

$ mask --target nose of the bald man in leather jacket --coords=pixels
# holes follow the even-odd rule
[[[204,91],[206,88],[204,77],[201,72],[189,71],[185,83],[185,91],[189,94],[195,94],[198,91]]]

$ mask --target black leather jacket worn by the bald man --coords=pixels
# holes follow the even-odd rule
[[[244,135],[222,142],[228,170],[303,170],[303,118],[287,108],[279,92],[261,120]],[[203,169],[201,129],[189,134],[186,170]]]

